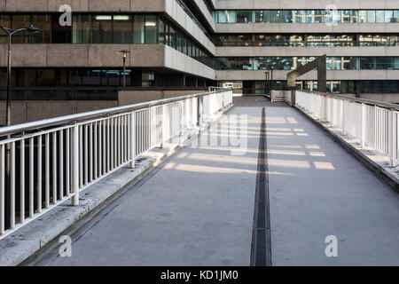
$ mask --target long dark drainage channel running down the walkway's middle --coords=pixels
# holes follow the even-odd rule
[[[251,266],[271,266],[269,169],[266,138],[266,109],[262,108],[258,168],[254,202],[254,231]]]

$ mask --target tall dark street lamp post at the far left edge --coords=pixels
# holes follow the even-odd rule
[[[16,33],[22,31],[28,31],[29,33],[38,33],[40,32],[40,28],[35,28],[33,26],[27,28],[4,28],[0,26],[1,29],[4,30],[5,34],[8,36],[8,64],[7,64],[7,101],[5,106],[5,125],[11,125],[11,101],[12,101],[12,36]],[[11,135],[8,135],[7,138],[11,138]],[[11,147],[10,144],[7,143],[5,146],[6,151],[6,178],[5,178],[5,188],[10,189],[11,185]],[[5,191],[5,200],[10,200],[10,192]],[[10,204],[9,202],[5,202],[5,226],[8,227],[11,225],[10,222]]]

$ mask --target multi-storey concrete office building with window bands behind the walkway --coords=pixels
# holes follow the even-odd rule
[[[66,16],[71,25],[62,26]],[[18,122],[43,100],[78,112],[223,83],[263,93],[265,71],[284,88],[288,72],[324,54],[328,91],[399,102],[396,0],[0,0],[0,26],[30,25],[42,32],[12,39]],[[4,99],[4,34],[0,43]],[[316,91],[317,73],[297,83]]]

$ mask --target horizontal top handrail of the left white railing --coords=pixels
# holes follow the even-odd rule
[[[76,122],[79,122],[82,120],[92,119],[95,117],[107,116],[110,114],[118,114],[118,113],[122,113],[122,112],[126,112],[126,111],[132,111],[132,110],[136,110],[136,109],[140,109],[140,108],[150,107],[150,106],[164,105],[164,104],[173,103],[173,102],[176,102],[179,100],[198,98],[201,96],[206,96],[206,95],[209,95],[212,93],[218,93],[218,92],[223,92],[223,91],[226,91],[226,90],[201,92],[201,93],[197,93],[197,94],[184,95],[184,96],[179,96],[179,97],[170,98],[170,99],[157,99],[157,100],[146,101],[146,102],[137,103],[137,104],[133,104],[133,105],[115,106],[115,107],[85,112],[85,113],[81,113],[81,114],[69,114],[69,115],[65,115],[65,116],[43,119],[43,120],[35,121],[35,122],[26,122],[26,123],[21,123],[21,124],[4,126],[4,127],[0,127],[0,138],[4,137],[6,135],[12,135],[15,133],[20,133],[20,132],[24,132],[24,131],[28,131],[28,130],[37,130],[37,129],[42,129],[45,127],[68,123],[68,122],[76,123]]]

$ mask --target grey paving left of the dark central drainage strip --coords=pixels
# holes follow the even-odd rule
[[[41,264],[249,265],[262,108],[229,112],[241,113],[250,151],[231,155],[232,146],[214,143],[225,130],[210,129],[75,234],[72,257]]]

